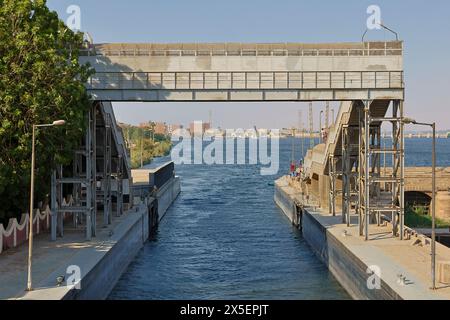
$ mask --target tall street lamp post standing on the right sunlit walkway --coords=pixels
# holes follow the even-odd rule
[[[419,126],[429,126],[433,130],[433,146],[432,146],[432,172],[431,172],[431,288],[436,289],[436,122],[423,123],[414,119],[404,118],[405,124],[415,124]]]

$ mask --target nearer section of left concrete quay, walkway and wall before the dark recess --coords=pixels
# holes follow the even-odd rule
[[[131,230],[134,226],[141,232],[133,235]],[[85,241],[83,234],[82,229],[66,229],[64,237],[54,242],[50,241],[48,234],[35,238],[32,292],[25,292],[28,246],[4,252],[0,256],[0,299],[106,298],[123,269],[134,257],[133,253],[141,248],[148,237],[148,211],[143,206],[135,207],[115,217],[113,223],[99,229],[97,237],[91,241]],[[113,248],[125,249],[128,254],[121,254],[124,250],[113,252]],[[109,265],[107,268],[102,265],[106,261]],[[71,290],[65,285],[70,276],[66,274],[67,267],[72,265],[81,269],[81,290]],[[98,266],[102,266],[102,270],[98,270]],[[62,286],[57,286],[58,276],[65,276]]]

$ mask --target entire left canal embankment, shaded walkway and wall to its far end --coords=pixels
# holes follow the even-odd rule
[[[33,250],[34,290],[31,292],[24,290],[28,247],[24,245],[3,253],[0,256],[0,299],[107,298],[147,241],[151,229],[159,223],[180,193],[180,179],[173,175],[173,168],[169,171],[170,175],[158,182],[159,188],[152,188],[146,195],[136,197],[132,209],[115,217],[111,225],[100,228],[91,241],[83,240],[82,230],[68,230],[57,241],[50,241],[46,234],[36,237]],[[153,170],[151,174],[156,172]],[[143,184],[140,187],[146,188]],[[80,271],[78,278],[77,270]],[[58,277],[63,277],[61,285],[57,283]],[[79,288],[70,286],[73,279],[80,280]]]

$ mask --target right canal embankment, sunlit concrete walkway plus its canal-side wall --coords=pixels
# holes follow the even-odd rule
[[[429,243],[418,242],[421,238],[400,241],[388,227],[376,225],[370,229],[374,235],[372,240],[364,241],[359,236],[356,219],[347,227],[342,224],[340,214],[333,217],[307,206],[299,194],[289,184],[289,178],[276,181],[275,202],[301,228],[304,239],[354,299],[450,298],[448,286],[440,285],[435,291],[429,289]],[[450,249],[438,244],[437,260],[450,261]],[[380,281],[374,287],[375,270]],[[403,282],[399,281],[399,275],[405,277]]]

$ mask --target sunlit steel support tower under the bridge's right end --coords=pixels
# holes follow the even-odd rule
[[[372,101],[364,101],[359,116],[359,231],[369,240],[369,225],[382,213],[392,213],[394,236],[404,236],[404,133],[403,102],[392,102],[392,117],[371,116]],[[381,124],[392,123],[392,149],[381,148]],[[392,175],[385,177],[381,171],[381,155],[392,154]],[[381,185],[390,184],[390,201],[382,197]],[[384,188],[386,193],[386,188]],[[400,229],[400,230],[399,230]]]

